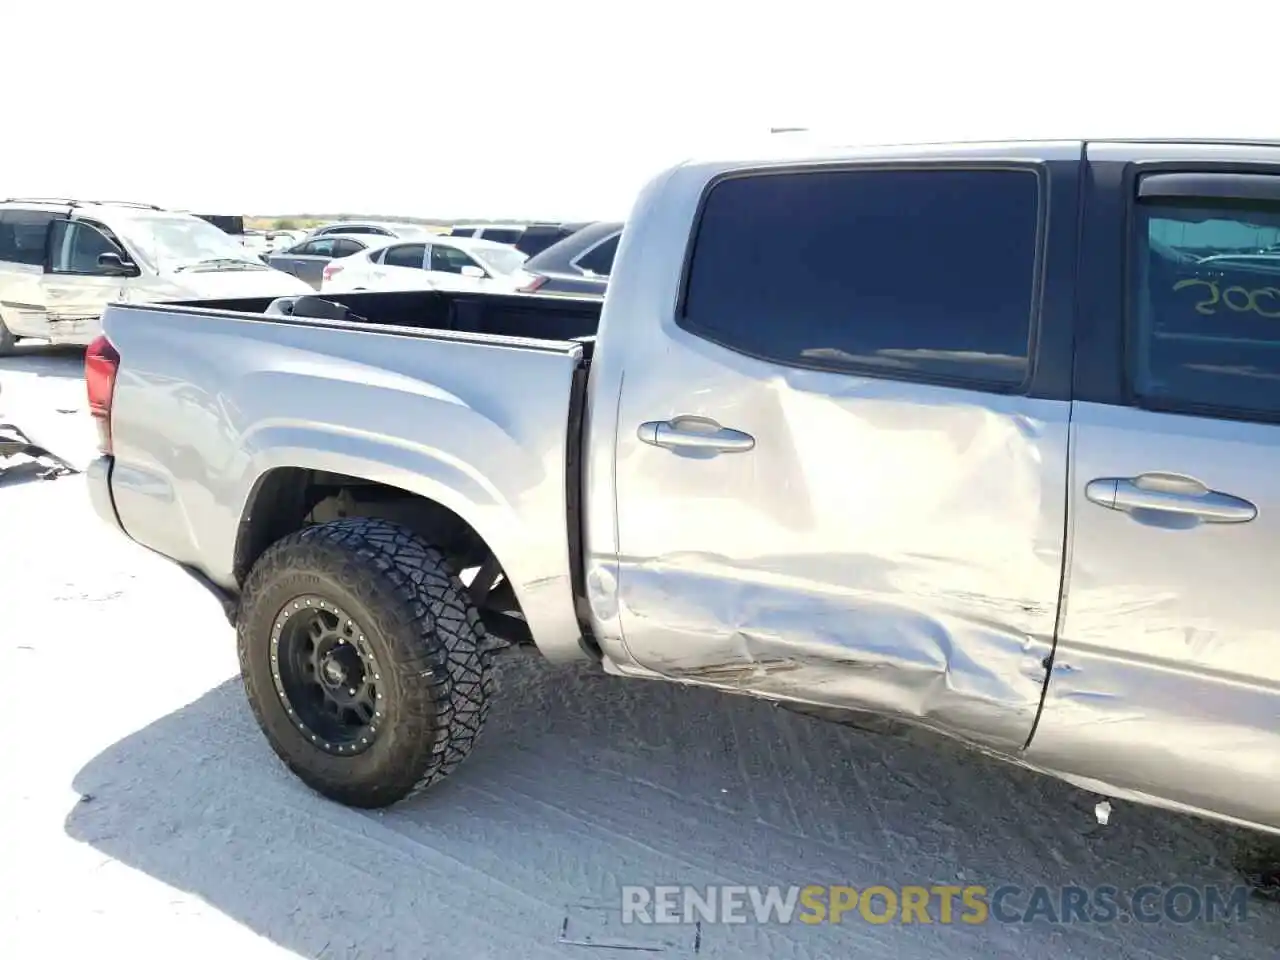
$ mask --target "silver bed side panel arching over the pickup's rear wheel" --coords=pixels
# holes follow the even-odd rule
[[[268,471],[398,486],[470,522],[547,652],[580,655],[564,509],[581,347],[160,307],[113,306],[105,328],[129,536],[234,589],[237,530]]]

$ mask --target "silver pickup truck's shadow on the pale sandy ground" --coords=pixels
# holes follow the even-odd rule
[[[628,883],[1016,884],[1015,911],[1038,884],[1239,883],[1228,831],[1130,806],[1103,828],[1093,797],[931,735],[524,653],[499,680],[468,762],[381,813],[297,782],[229,680],[90,762],[67,832],[326,957],[582,956],[557,943],[564,918]],[[1280,913],[1254,901],[1228,924],[932,919],[717,924],[700,956],[1244,960],[1280,942]],[[691,952],[677,940],[664,955]]]

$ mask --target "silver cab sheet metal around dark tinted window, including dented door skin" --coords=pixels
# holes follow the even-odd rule
[[[1053,242],[1070,265],[1079,155],[1079,143],[997,145],[966,159],[1060,164]],[[681,329],[703,191],[754,166],[668,172],[627,220],[589,398],[586,589],[600,644],[622,673],[877,710],[1016,754],[1057,617],[1069,399],[788,369]],[[1047,321],[1068,343],[1070,280],[1053,280]],[[639,424],[677,416],[746,431],[755,448],[694,458],[637,439]]]

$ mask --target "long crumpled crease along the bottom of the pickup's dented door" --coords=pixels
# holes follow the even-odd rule
[[[672,575],[682,581],[678,596],[662,586]],[[660,609],[663,628],[687,636],[681,655],[650,664],[671,677],[920,719],[963,714],[975,703],[1029,719],[1038,703],[1043,668],[1034,644],[991,617],[728,576],[724,558],[713,556],[628,567],[627,582],[631,614]],[[850,622],[859,625],[856,639]]]

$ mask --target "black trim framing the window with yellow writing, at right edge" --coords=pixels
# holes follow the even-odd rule
[[[1178,179],[1165,179],[1176,177]],[[1262,177],[1274,177],[1274,184],[1261,184]],[[1144,180],[1153,183],[1143,189]],[[1224,204],[1274,204],[1280,212],[1280,163],[1266,161],[1194,161],[1155,160],[1125,164],[1121,177],[1124,189],[1124,283],[1121,307],[1123,361],[1120,364],[1123,406],[1152,413],[1172,413],[1207,420],[1230,420],[1247,424],[1280,424],[1280,411],[1267,412],[1216,403],[1194,403],[1171,397],[1147,397],[1138,392],[1138,301],[1140,297],[1138,259],[1139,210],[1143,206],[1202,206],[1213,209]],[[1192,191],[1198,186],[1203,193]],[[1270,189],[1267,189],[1270,187]],[[1180,192],[1175,192],[1180,191]],[[1202,202],[1199,202],[1202,201]]]

